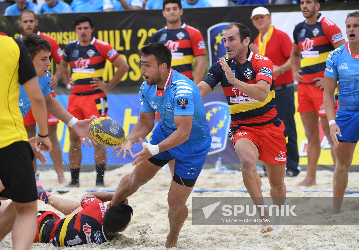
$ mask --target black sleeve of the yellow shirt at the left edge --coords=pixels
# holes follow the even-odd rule
[[[20,49],[18,74],[19,83],[23,85],[25,82],[36,76],[36,71],[25,45],[19,39],[14,39],[14,41],[18,44]]]

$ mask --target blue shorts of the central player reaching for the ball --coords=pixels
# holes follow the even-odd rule
[[[149,143],[156,145],[164,141],[166,136],[160,126],[156,126],[149,139]],[[174,171],[183,179],[195,179],[201,173],[207,153],[211,147],[210,136],[196,144],[182,143],[177,147],[160,152],[153,157],[159,160],[171,161],[175,159]]]

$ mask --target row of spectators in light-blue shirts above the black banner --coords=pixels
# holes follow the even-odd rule
[[[35,14],[162,9],[162,3],[163,0],[0,0],[0,15],[19,15],[24,9]],[[182,0],[184,9],[248,4],[298,4],[298,0]]]

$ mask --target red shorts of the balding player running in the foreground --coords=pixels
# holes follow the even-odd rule
[[[278,165],[285,165],[287,162],[288,137],[282,121],[253,127],[232,124],[229,128],[229,138],[233,147],[239,139],[251,140],[258,148],[258,160]]]

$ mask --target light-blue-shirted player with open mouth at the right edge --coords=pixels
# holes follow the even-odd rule
[[[333,178],[333,197],[342,198],[348,185],[348,171],[359,140],[359,11],[345,20],[349,42],[330,52],[324,74],[324,108],[335,145],[337,162]],[[334,91],[338,81],[339,109],[334,111]],[[342,199],[334,199],[339,213]]]

